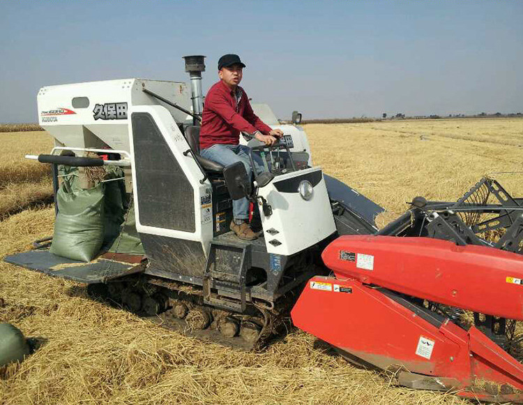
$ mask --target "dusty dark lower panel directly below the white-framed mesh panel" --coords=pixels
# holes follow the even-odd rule
[[[200,242],[174,237],[140,233],[147,258],[153,270],[173,275],[204,277],[206,257]]]

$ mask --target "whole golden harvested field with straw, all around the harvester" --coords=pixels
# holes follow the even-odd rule
[[[308,124],[305,131],[314,163],[389,209],[391,217],[414,196],[456,200],[486,173],[521,170],[523,119]],[[3,139],[11,143],[0,178],[8,159],[50,149],[45,133],[34,133],[25,147],[16,142],[20,138]],[[49,181],[38,175],[36,163],[24,170]],[[31,176],[9,184],[29,188]],[[496,177],[523,196],[520,175]],[[52,207],[32,208],[0,221],[0,257],[50,235],[53,217]],[[299,330],[262,353],[241,353],[93,302],[77,283],[5,263],[0,297],[6,302],[0,321],[44,342],[22,364],[0,371],[2,404],[472,404],[395,387],[387,376],[351,366]]]

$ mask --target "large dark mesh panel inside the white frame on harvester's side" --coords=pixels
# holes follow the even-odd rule
[[[132,114],[132,135],[140,223],[195,232],[192,186],[151,115]]]

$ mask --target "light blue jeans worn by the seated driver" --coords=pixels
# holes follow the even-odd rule
[[[232,163],[241,162],[245,166],[245,171],[252,182],[252,168],[250,167],[249,159],[250,147],[245,145],[223,145],[215,144],[206,149],[202,149],[199,154],[202,158],[209,159],[220,163],[220,165],[228,166]],[[264,163],[261,161],[259,154],[252,154],[252,160],[255,162],[256,172],[259,174],[264,171]],[[249,200],[241,198],[240,200],[233,200],[232,215],[234,219],[248,219],[249,218]]]

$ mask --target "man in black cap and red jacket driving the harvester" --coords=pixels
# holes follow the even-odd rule
[[[205,98],[200,128],[200,155],[205,159],[224,166],[241,161],[245,165],[249,179],[252,170],[261,172],[263,165],[258,156],[253,156],[255,168],[250,167],[249,147],[239,145],[240,132],[248,133],[253,138],[273,145],[276,138],[283,135],[280,129],[271,129],[259,119],[249,103],[247,94],[240,84],[245,65],[236,54],[223,55],[218,61],[220,81],[213,84]],[[248,223],[249,201],[247,198],[233,201],[234,219],[231,230],[243,240],[255,240],[258,236]]]

